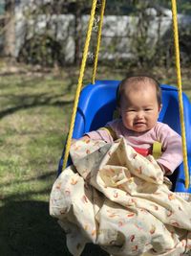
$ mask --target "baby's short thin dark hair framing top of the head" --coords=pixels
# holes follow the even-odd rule
[[[161,90],[160,90],[160,86],[159,86],[159,81],[154,79],[152,76],[148,76],[148,75],[133,75],[133,76],[126,77],[124,80],[120,81],[120,83],[118,84],[118,86],[117,86],[117,106],[120,106],[122,92],[124,91],[127,83],[129,83],[129,82],[138,83],[139,81],[145,81],[145,80],[150,81],[150,83],[155,85],[156,91],[157,91],[157,100],[158,100],[158,104],[160,105],[161,104]]]

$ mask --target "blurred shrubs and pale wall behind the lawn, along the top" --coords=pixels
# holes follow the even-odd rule
[[[100,0],[96,8],[96,20],[89,63],[94,60],[96,31]],[[79,63],[91,11],[92,1],[85,0],[7,0],[1,18],[3,57],[19,62],[41,66],[65,66]],[[177,1],[180,19],[180,52],[182,65],[191,62],[191,4]],[[116,20],[104,23],[100,62],[121,66],[150,67],[158,64],[169,67],[173,64],[174,47],[171,24],[162,33],[162,20],[170,12],[171,1],[107,1],[105,19],[116,16]],[[18,14],[20,13],[20,14]],[[169,14],[168,14],[169,15]],[[190,16],[189,16],[190,15]],[[116,24],[122,25],[123,17],[131,17],[123,32]],[[169,16],[171,19],[171,16]],[[185,22],[187,23],[183,25]],[[152,28],[155,25],[155,33]],[[167,25],[166,25],[167,26]],[[129,56],[125,53],[130,53]],[[108,61],[109,60],[109,61]]]

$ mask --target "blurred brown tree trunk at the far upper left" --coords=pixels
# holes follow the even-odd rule
[[[5,3],[5,37],[4,37],[4,55],[14,59],[15,52],[15,24],[14,24],[14,0],[7,0]]]

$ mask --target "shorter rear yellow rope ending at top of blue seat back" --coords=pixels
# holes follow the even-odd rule
[[[94,68],[93,68],[92,84],[95,84],[95,80],[96,80],[96,68],[97,68],[98,53],[99,53],[100,41],[101,41],[101,32],[102,32],[103,17],[104,17],[104,11],[105,11],[105,3],[106,3],[106,0],[102,0],[100,20],[99,20],[98,32],[97,32],[96,53],[95,53],[95,62],[94,62]]]

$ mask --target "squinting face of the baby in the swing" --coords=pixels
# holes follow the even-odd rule
[[[156,87],[153,84],[129,85],[120,102],[120,115],[126,128],[143,132],[153,128],[159,117],[161,105],[157,100]]]

